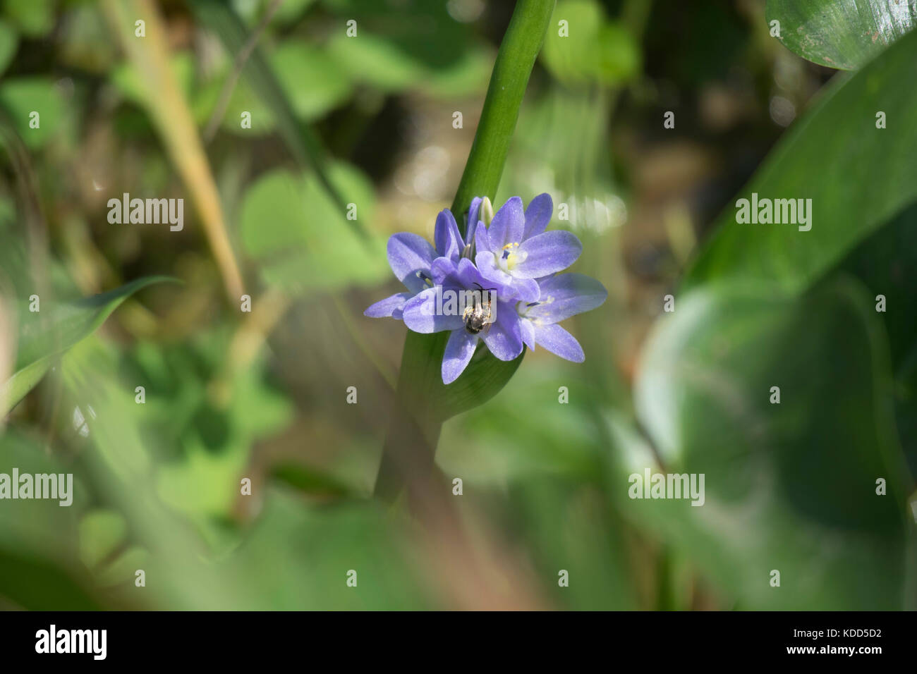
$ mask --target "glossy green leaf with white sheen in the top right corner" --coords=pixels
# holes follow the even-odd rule
[[[803,59],[852,71],[914,27],[910,0],[768,0],[768,28]],[[773,32],[771,32],[773,34]]]

